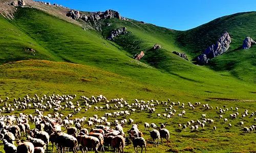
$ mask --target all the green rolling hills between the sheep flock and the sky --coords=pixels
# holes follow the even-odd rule
[[[54,10],[54,6],[41,7],[34,3],[30,2],[28,7],[18,7],[11,20],[4,16],[0,18],[0,27],[3,31],[0,39],[0,63],[3,64],[0,76],[3,85],[2,96],[6,94],[7,89],[22,88],[24,81],[34,88],[22,92],[31,94],[54,92],[54,89],[64,93],[69,93],[73,89],[81,92],[86,88],[88,94],[122,95],[130,98],[138,95],[147,98],[170,97],[174,100],[256,97],[253,81],[256,76],[254,47],[248,50],[234,50],[242,44],[245,36],[253,34],[255,12],[225,16],[188,31],[170,30],[133,19],[101,19],[98,24],[102,31],[96,31],[93,27],[90,28],[90,23],[80,19],[73,20],[63,14],[68,9]],[[243,27],[228,24],[230,21],[240,23],[242,20]],[[106,26],[107,23],[110,26]],[[106,40],[113,29],[120,27],[126,27],[128,33],[116,37],[114,41]],[[237,31],[239,28],[240,32]],[[191,61],[207,45],[214,43],[224,30],[230,31],[232,37],[228,52],[211,60],[208,66],[193,64]],[[203,37],[204,35],[207,37]],[[253,35],[250,36],[254,38]],[[152,47],[156,43],[162,47],[154,50]],[[134,60],[132,57],[142,50],[145,52],[142,60]],[[186,53],[189,61],[173,54],[173,51]],[[53,64],[56,69],[38,67],[37,64],[46,62],[40,60],[48,60],[49,65],[45,66],[49,66],[50,69]],[[89,66],[91,69],[84,70],[84,75],[90,74],[90,77],[86,77],[89,80],[93,78],[91,74],[96,73],[92,71],[92,67],[100,71],[101,77],[97,78],[97,81],[102,84],[95,81],[80,84],[84,79],[82,70],[74,72],[74,76],[66,76],[62,65],[72,63],[85,66],[84,69]],[[10,67],[13,67],[13,71]],[[59,73],[58,68],[61,72],[55,75]],[[66,69],[73,70],[72,66]],[[109,77],[112,84],[108,85],[104,81],[108,78],[105,74],[107,72],[113,74]],[[122,82],[117,76],[125,79],[121,79]],[[42,90],[54,83],[63,88]],[[77,86],[74,86],[75,84]],[[5,87],[6,85],[8,87]],[[66,85],[70,87],[64,87]],[[126,91],[127,87],[131,88],[129,92]],[[19,90],[10,90],[9,93],[20,94]]]

